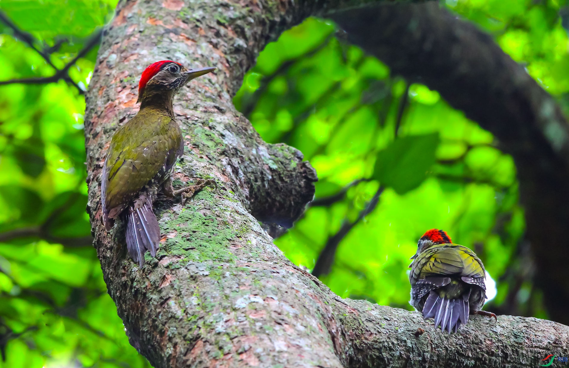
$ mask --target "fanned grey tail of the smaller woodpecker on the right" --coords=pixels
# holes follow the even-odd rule
[[[435,327],[440,325],[442,331],[452,330],[457,332],[460,325],[468,322],[469,305],[468,297],[470,293],[457,299],[446,299],[441,297],[435,291],[431,291],[423,306],[423,318],[434,318]]]

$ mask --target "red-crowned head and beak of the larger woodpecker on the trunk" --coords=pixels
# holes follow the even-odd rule
[[[171,100],[188,81],[215,69],[217,68],[186,69],[182,64],[172,60],[156,61],[142,72],[141,81],[138,83],[137,102],[143,102],[156,95]]]

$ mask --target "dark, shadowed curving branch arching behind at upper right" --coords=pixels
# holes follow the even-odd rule
[[[552,320],[569,325],[569,125],[555,100],[493,39],[436,2],[333,14],[391,71],[435,89],[491,131],[516,162],[526,238]]]

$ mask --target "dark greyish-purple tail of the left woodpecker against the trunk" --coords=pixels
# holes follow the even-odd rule
[[[146,250],[156,257],[160,244],[160,226],[150,201],[146,201],[141,208],[131,206],[127,220],[126,247],[133,261],[142,267]]]

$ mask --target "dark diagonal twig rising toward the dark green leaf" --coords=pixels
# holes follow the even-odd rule
[[[334,234],[331,238],[328,238],[324,249],[320,252],[318,260],[314,265],[314,270],[312,270],[312,275],[319,277],[320,275],[326,275],[330,272],[332,263],[334,262],[334,257],[336,255],[336,249],[344,237],[353,229],[354,226],[358,224],[366,215],[372,212],[380,199],[381,193],[384,191],[384,187],[380,186],[377,189],[376,194],[373,195],[372,199],[368,202],[364,209],[360,211],[356,221],[349,222],[344,220],[340,230]]]

